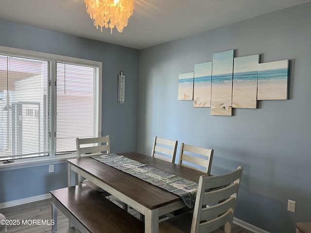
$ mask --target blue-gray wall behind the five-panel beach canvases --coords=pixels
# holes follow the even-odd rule
[[[213,148],[212,174],[242,165],[235,216],[271,233],[291,233],[295,222],[311,220],[310,12],[307,3],[139,54],[138,151],[150,154],[156,135]],[[232,49],[236,57],[261,54],[261,62],[289,59],[289,100],[262,100],[234,116],[211,116],[210,108],[177,100],[179,73]],[[288,199],[296,201],[295,214]]]

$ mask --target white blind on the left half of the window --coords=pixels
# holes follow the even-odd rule
[[[0,54],[0,159],[50,153],[47,60]]]

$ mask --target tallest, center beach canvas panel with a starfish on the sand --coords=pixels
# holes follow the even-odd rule
[[[213,54],[211,115],[232,116],[234,50]]]

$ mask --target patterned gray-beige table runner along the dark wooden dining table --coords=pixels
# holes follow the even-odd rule
[[[181,197],[189,208],[194,207],[198,183],[114,153],[90,157],[172,192]]]

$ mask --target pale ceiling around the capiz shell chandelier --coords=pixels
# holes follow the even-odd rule
[[[119,33],[97,30],[84,0],[0,0],[0,19],[134,49],[183,38],[311,0],[135,0]]]

